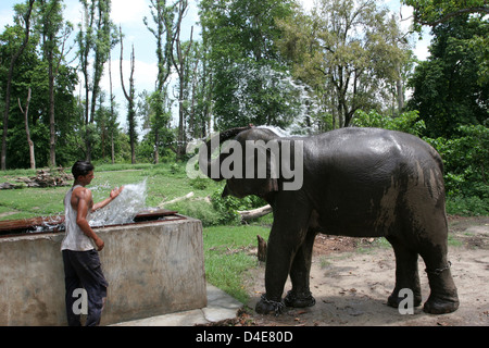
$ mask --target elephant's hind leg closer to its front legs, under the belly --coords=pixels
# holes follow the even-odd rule
[[[387,237],[387,240],[392,245],[396,254],[396,287],[387,303],[390,307],[399,308],[399,303],[404,299],[399,297],[399,291],[410,289],[414,296],[413,306],[418,307],[422,302],[422,294],[417,271],[417,252],[408,248],[396,237]]]

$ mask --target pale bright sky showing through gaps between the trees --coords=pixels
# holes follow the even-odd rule
[[[198,39],[200,35],[200,27],[197,25],[199,21],[197,0],[190,0],[187,15],[184,20],[181,39],[187,40],[190,38],[190,28],[193,26],[193,38]],[[7,24],[12,24],[13,5],[15,3],[22,3],[25,0],[0,0],[0,30]],[[314,5],[314,0],[300,0],[305,10],[311,10]],[[394,13],[401,14],[402,18],[409,18],[412,14],[412,10],[409,7],[401,7],[399,0],[384,0],[383,1]],[[72,22],[75,25],[75,30],[72,34],[71,39],[74,39],[77,30],[76,24],[82,21],[82,5],[79,0],[64,0],[65,4],[65,20]],[[130,49],[131,45],[135,48],[135,87],[136,92],[141,92],[145,89],[148,91],[154,90],[154,83],[158,75],[156,55],[155,55],[155,39],[153,35],[142,23],[145,16],[148,17],[149,23],[152,22],[150,12],[150,0],[112,0],[112,13],[111,17],[114,24],[121,25],[124,34],[124,78],[126,88],[128,88],[128,76],[130,74]],[[403,21],[402,26],[408,29],[411,25],[410,21]],[[424,33],[423,40],[417,41],[414,48],[414,53],[419,60],[425,60],[428,57],[428,46],[430,36],[428,33]],[[72,44],[73,45],[73,44]],[[73,60],[76,47],[73,47],[67,61]],[[126,100],[123,97],[120,77],[120,54],[121,47],[117,45],[112,52],[112,79],[113,91],[116,97],[116,102],[120,108],[120,121],[122,125],[125,124],[124,110],[126,109]],[[75,62],[76,63],[76,62]],[[108,69],[105,69],[108,72]],[[80,78],[80,82],[83,78]],[[109,90],[109,74],[105,73],[101,82],[101,87],[104,90]],[[79,92],[79,91],[78,91]],[[176,104],[176,103],[174,103]]]

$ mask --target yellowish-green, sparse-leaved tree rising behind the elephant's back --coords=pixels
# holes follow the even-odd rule
[[[397,23],[372,0],[319,0],[311,15],[299,13],[280,25],[294,76],[330,105],[333,128],[349,126],[358,110],[383,108],[409,58]],[[397,88],[399,96],[402,86]]]

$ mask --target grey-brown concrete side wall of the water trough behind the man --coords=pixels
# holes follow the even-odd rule
[[[109,282],[102,325],[206,306],[202,224],[98,228]],[[64,234],[0,238],[0,325],[66,325]]]

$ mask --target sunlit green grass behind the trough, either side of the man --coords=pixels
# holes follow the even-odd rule
[[[117,169],[114,171],[113,169]],[[33,176],[30,170],[13,170],[0,172],[0,183],[15,183],[17,176]],[[185,173],[185,166],[172,164],[130,165],[109,164],[96,166],[95,178],[88,186],[92,190],[93,201],[106,198],[113,187],[137,184],[147,179],[148,185],[148,207],[158,207],[163,201],[185,196],[190,191],[195,197],[206,197],[217,189],[222,184],[208,179],[204,187],[196,188],[192,179]],[[71,183],[70,183],[71,184]],[[15,212],[8,216],[0,216],[0,220],[15,220],[34,217],[39,215],[52,215],[63,213],[63,197],[68,190],[67,187],[50,188],[21,188],[0,190],[0,214],[2,212]]]

